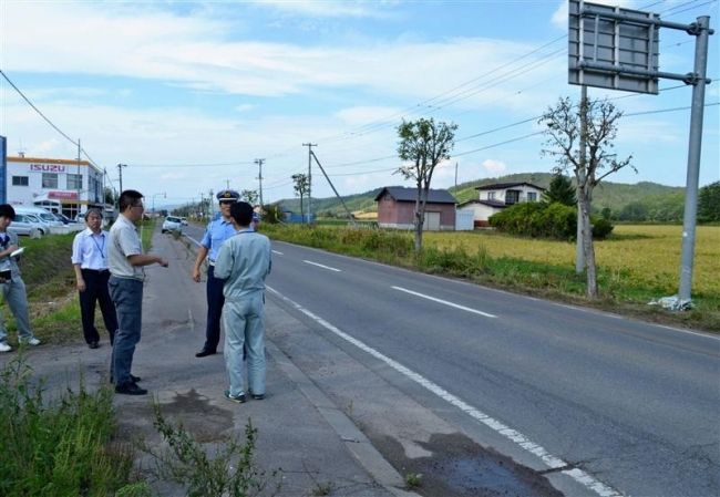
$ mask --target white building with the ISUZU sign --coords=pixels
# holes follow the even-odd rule
[[[70,218],[89,207],[104,208],[103,172],[88,161],[7,157],[0,185],[4,201],[14,206],[39,206]]]

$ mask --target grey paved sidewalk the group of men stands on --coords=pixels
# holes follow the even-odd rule
[[[413,496],[402,489],[402,477],[372,447],[354,424],[287,358],[268,341],[267,397],[245,404],[227,401],[222,353],[196,359],[205,333],[205,284],[194,283],[194,260],[182,242],[156,232],[153,252],[169,260],[169,268],[147,268],[143,336],[133,373],[143,379],[147,396],[115,396],[120,427],[130,437],[160,443],[152,426],[151,402],[181,421],[208,446],[228,437],[244,439],[248,420],[258,429],[256,460],[268,474],[281,469],[279,496]],[[281,312],[268,303],[268,321]],[[287,327],[287,320],[279,320]],[[285,330],[287,331],[287,330]],[[79,341],[82,332],[78,330]],[[49,377],[49,386],[64,386],[82,372],[89,385],[106,380],[110,345],[90,350],[84,344],[43,345],[30,351],[29,362]],[[0,363],[12,354],[3,354]],[[1,365],[1,364],[0,364]],[[277,480],[277,478],[276,478]],[[330,493],[322,493],[330,488]],[[161,487],[164,495],[177,494]],[[269,494],[269,493],[268,493]]]

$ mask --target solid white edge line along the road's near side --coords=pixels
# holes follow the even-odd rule
[[[404,375],[405,377],[412,380],[413,382],[418,383],[419,385],[423,386],[425,390],[434,393],[438,395],[440,398],[443,401],[450,403],[451,405],[457,407],[465,414],[467,414],[470,417],[474,418],[475,421],[481,422],[482,424],[488,426],[491,429],[494,429],[498,434],[503,435],[505,438],[508,438],[510,441],[514,442],[517,444],[520,447],[524,448],[525,451],[529,452],[531,454],[539,457],[539,459],[547,465],[551,469],[557,469],[562,467],[569,466],[568,463],[565,460],[560,459],[559,457],[556,457],[552,454],[549,454],[542,445],[538,445],[527,438],[525,435],[522,433],[505,426],[503,423],[501,423],[497,420],[494,420],[490,417],[487,414],[483,413],[482,411],[475,408],[474,406],[467,404],[465,401],[463,401],[460,397],[456,397],[455,395],[451,394],[448,392],[442,386],[431,382],[423,375],[415,373],[409,367],[405,367],[398,361],[388,358],[387,355],[382,354],[381,352],[372,349],[371,346],[367,345],[366,343],[361,342],[360,340],[356,339],[354,336],[349,335],[348,333],[341,331],[340,329],[333,327],[319,315],[313,314],[309,310],[305,309],[299,303],[295,302],[294,300],[285,297],[282,293],[279,291],[267,287],[266,288],[275,293],[278,298],[285,300],[288,302],[290,306],[292,306],[295,309],[298,311],[302,312],[308,318],[312,319],[316,321],[318,324],[320,324],[322,328],[326,330],[335,333],[337,336],[341,338],[342,340],[346,340],[347,342],[353,344],[358,349],[362,350],[363,352],[367,352],[368,354],[372,355],[373,358],[384,362],[388,364],[390,367],[393,370],[398,371],[400,374]],[[569,476],[573,478],[575,482],[579,483],[584,487],[595,491],[597,495],[600,497],[623,497],[623,494],[616,490],[615,488],[604,484],[603,482],[595,479],[593,476],[588,475],[582,469],[574,468],[574,469],[565,469],[563,472],[564,475]]]

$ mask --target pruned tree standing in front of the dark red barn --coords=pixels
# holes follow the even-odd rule
[[[414,209],[415,252],[422,249],[422,228],[425,222],[425,205],[435,167],[450,158],[455,145],[456,124],[435,123],[421,117],[403,121],[398,126],[398,155],[408,164],[398,168],[405,179],[413,179],[418,188]]]

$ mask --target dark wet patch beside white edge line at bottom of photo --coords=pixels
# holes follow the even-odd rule
[[[402,445],[394,438],[377,442],[403,477],[422,475],[421,485],[413,490],[423,496],[563,496],[538,473],[477,445],[460,433],[433,435],[429,442],[416,442],[432,454],[416,458],[407,457]]]

